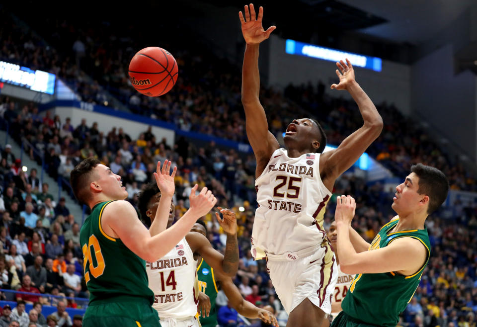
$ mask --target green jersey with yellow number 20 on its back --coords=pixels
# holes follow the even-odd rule
[[[95,205],[79,232],[89,304],[113,297],[121,301],[142,297],[152,304],[154,293],[148,286],[146,262],[101,228],[101,214],[110,202]]]

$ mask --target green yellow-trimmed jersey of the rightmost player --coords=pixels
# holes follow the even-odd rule
[[[399,314],[411,301],[419,285],[422,271],[430,256],[431,245],[427,228],[390,233],[398,221],[396,219],[384,225],[368,251],[385,247],[399,238],[410,237],[419,240],[426,247],[426,262],[411,276],[402,276],[395,272],[356,275],[341,304],[343,311],[351,318],[371,325],[396,326]]]

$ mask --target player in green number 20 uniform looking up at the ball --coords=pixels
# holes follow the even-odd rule
[[[205,187],[199,195],[192,192],[190,209],[181,220],[167,231],[151,236],[134,207],[124,201],[128,192],[122,186],[121,176],[109,167],[88,158],[72,170],[70,180],[79,202],[91,208],[79,233],[84,279],[90,294],[83,326],[160,326],[158,314],[151,306],[154,293],[148,287],[144,260],[153,261],[165,255],[198,218],[214,207],[217,199]],[[156,217],[157,223],[153,222],[151,230],[167,220],[170,201],[163,202],[158,210],[158,216],[162,216]]]

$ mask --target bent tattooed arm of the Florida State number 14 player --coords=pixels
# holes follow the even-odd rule
[[[216,272],[234,277],[239,270],[239,244],[237,241],[237,219],[235,213],[228,209],[219,210],[223,214],[217,218],[224,232],[227,234],[225,256],[212,247],[209,240],[200,233],[190,232],[186,236],[187,243],[194,253],[202,256]],[[216,213],[218,216],[218,214]]]

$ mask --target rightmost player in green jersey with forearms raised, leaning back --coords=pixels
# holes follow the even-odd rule
[[[341,270],[357,275],[331,327],[394,327],[419,286],[431,254],[425,221],[446,200],[449,182],[439,169],[416,164],[396,190],[391,207],[397,216],[371,244],[351,227],[354,199],[336,200]]]

